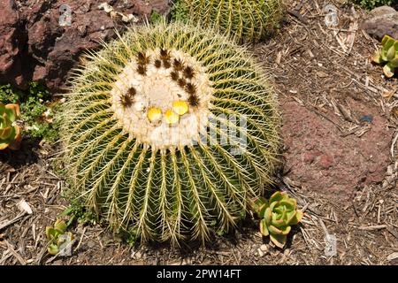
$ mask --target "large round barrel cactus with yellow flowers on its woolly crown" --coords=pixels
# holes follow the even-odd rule
[[[85,61],[63,111],[72,195],[142,241],[234,226],[270,184],[279,144],[275,97],[246,50],[160,23]]]

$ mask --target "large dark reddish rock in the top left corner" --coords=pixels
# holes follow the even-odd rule
[[[98,6],[105,1],[48,0],[0,1],[0,83],[11,82],[24,88],[29,80],[44,82],[51,90],[65,87],[67,74],[86,50],[96,50],[100,42],[116,37],[131,23],[111,19]],[[170,11],[168,0],[106,1],[114,11],[133,14],[141,24],[153,10]],[[59,25],[62,4],[72,10],[72,26]],[[27,40],[28,39],[28,40]]]

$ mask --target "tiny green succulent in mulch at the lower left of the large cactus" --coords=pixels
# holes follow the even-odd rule
[[[50,255],[55,256],[61,249],[65,249],[65,244],[73,241],[73,233],[66,232],[67,225],[64,220],[57,219],[53,226],[46,227],[46,237],[49,241],[47,251]],[[69,242],[66,241],[69,240]]]

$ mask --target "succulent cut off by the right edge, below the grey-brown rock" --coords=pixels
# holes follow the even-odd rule
[[[373,61],[378,64],[385,64],[383,73],[387,78],[391,78],[398,69],[398,41],[389,35],[385,35],[381,45],[381,50],[376,52]]]

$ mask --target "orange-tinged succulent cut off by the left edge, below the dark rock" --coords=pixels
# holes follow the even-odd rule
[[[18,118],[18,104],[0,103],[0,150],[19,149],[21,135],[19,126],[15,124]]]

